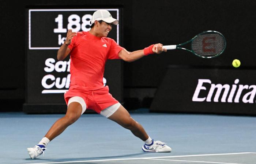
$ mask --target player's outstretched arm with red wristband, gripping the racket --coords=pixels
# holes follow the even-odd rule
[[[142,58],[145,55],[149,55],[149,54],[160,54],[163,51],[167,51],[165,48],[163,48],[163,44],[153,44],[147,48],[144,48],[144,50],[137,50],[137,51],[133,51],[133,52],[129,52],[125,49],[121,50],[118,53],[119,58],[123,59],[126,62],[133,62],[135,60],[138,60],[140,58]]]

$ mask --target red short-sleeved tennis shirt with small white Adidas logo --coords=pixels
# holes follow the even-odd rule
[[[78,32],[68,46],[70,51],[70,87],[103,87],[103,74],[107,59],[120,59],[124,48],[113,39],[97,37],[90,32]]]

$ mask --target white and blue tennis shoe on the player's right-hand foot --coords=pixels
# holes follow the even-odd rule
[[[166,143],[161,141],[152,141],[152,144],[144,144],[142,150],[144,152],[171,152],[172,148],[165,145]]]

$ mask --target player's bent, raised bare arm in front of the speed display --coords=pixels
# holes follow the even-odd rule
[[[67,39],[65,40],[64,44],[62,44],[62,46],[58,50],[58,53],[57,53],[58,60],[63,60],[68,56],[68,54],[70,52],[68,45],[71,43],[71,40],[73,39],[73,37],[76,35],[77,35],[77,32],[72,32],[72,30],[68,30]]]

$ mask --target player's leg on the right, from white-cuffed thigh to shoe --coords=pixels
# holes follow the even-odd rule
[[[115,105],[110,106],[107,108],[110,112],[112,111],[112,115],[108,115],[107,118],[109,118],[112,121],[117,122],[121,126],[123,126],[126,129],[131,130],[131,132],[136,136],[139,137],[142,141],[145,142],[145,144],[142,147],[142,150],[145,152],[171,152],[172,149],[165,145],[165,143],[161,141],[154,141],[152,140],[137,121],[135,121],[128,111],[120,105],[119,108],[116,110]],[[106,109],[105,109],[106,110]],[[104,110],[102,112],[105,112]]]

